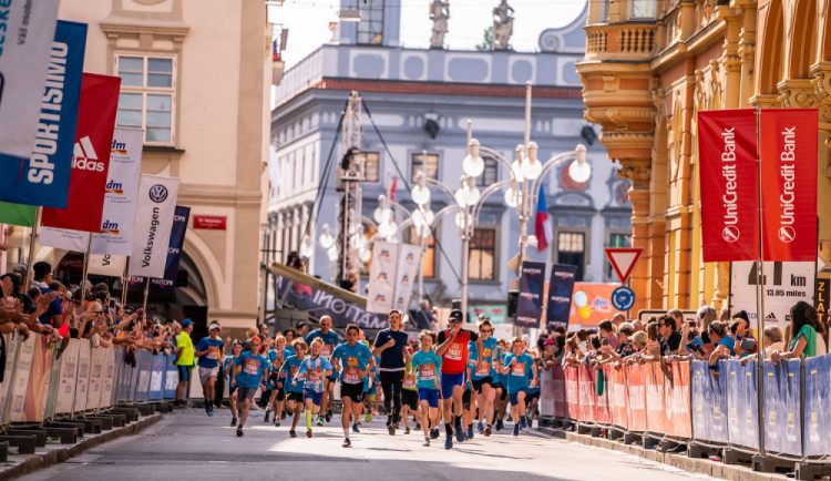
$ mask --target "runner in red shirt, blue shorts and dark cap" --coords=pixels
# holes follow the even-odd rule
[[[439,347],[435,355],[441,356],[441,397],[444,411],[444,430],[447,439],[444,449],[453,447],[453,424],[455,424],[455,439],[464,441],[462,430],[462,395],[466,382],[465,371],[468,368],[468,342],[476,342],[476,351],[482,352],[482,340],[472,330],[462,329],[462,311],[453,309],[448,321],[450,329],[439,332]],[[480,368],[482,361],[476,361]]]

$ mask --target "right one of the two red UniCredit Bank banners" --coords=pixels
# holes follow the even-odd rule
[[[765,109],[761,145],[765,260],[817,258],[817,109]]]

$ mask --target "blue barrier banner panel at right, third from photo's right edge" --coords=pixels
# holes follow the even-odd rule
[[[727,431],[731,444],[759,449],[759,401],[756,361],[741,366],[738,359],[726,361]]]

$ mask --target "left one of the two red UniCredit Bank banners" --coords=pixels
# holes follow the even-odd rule
[[[756,113],[699,112],[698,152],[704,262],[758,259]]]

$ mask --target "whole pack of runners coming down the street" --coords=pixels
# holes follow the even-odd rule
[[[462,329],[461,310],[450,313],[448,329],[421,330],[417,342],[403,330],[400,311],[389,311],[388,318],[389,328],[371,341],[349,325],[346,341],[339,342],[331,319],[324,316],[319,329],[290,344],[283,335],[235,342],[219,364],[227,376],[236,434],[244,436],[246,423],[253,422],[249,412],[260,390],[267,396],[265,422],[277,428],[285,423],[288,436],[297,438],[297,427],[305,421],[306,437],[311,438],[315,424],[331,421],[338,382],[343,448],[351,447],[350,434],[361,432],[362,421],[379,416],[379,401],[389,434],[402,427],[409,434],[412,423],[412,432],[423,432],[423,446],[441,436],[442,423],[445,449],[475,434],[491,436],[504,429],[505,420],[513,422],[513,436],[531,426],[540,399],[535,346],[530,348],[522,338],[492,337],[488,319],[479,321],[478,331]],[[208,352],[204,348],[212,338],[203,339],[203,349],[197,345],[197,356]],[[201,376],[206,392],[213,392],[213,364],[208,371],[201,368]],[[213,416],[208,403],[206,412]]]

